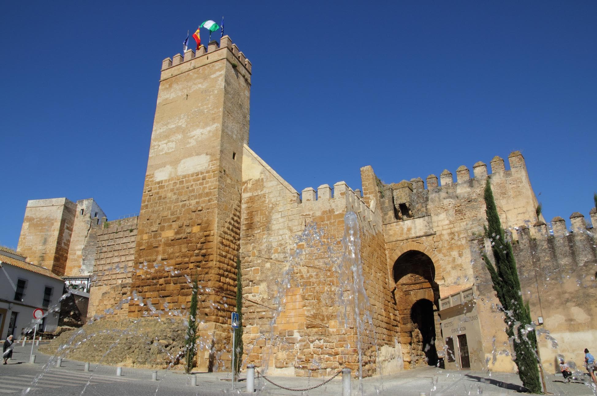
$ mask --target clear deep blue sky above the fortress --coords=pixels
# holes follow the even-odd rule
[[[520,150],[547,219],[589,217],[595,1],[10,1],[0,245],[16,248],[29,199],[139,211],[161,61],[222,15],[253,63],[250,146],[298,191],[361,188],[364,165],[389,183]]]

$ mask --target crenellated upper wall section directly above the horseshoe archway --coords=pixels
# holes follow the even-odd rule
[[[458,229],[464,233],[478,233],[485,224],[485,182],[490,180],[494,197],[504,227],[530,226],[537,218],[537,198],[528,179],[524,157],[520,151],[508,156],[509,169],[504,160],[495,156],[490,161],[490,171],[484,162],[476,162],[473,172],[465,165],[454,173],[449,169],[410,181],[384,184],[370,166],[361,168],[364,200],[374,201],[380,207],[383,224],[394,224],[396,238],[408,239],[414,230],[417,235],[430,235],[438,231]],[[425,184],[426,183],[426,184]],[[412,223],[412,224],[411,224]],[[413,225],[416,223],[416,227]],[[396,228],[396,230],[398,230]],[[513,231],[516,239],[516,231]]]

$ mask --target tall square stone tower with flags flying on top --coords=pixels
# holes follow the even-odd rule
[[[207,51],[189,49],[162,63],[135,262],[152,270],[173,266],[180,274],[163,267],[140,270],[131,286],[143,298],[155,298],[153,304],[176,309],[190,301],[184,275],[197,276],[210,289],[199,305],[207,322],[200,330],[212,337],[229,333],[234,309],[250,87],[251,63],[228,36]],[[221,304],[226,300],[227,311]],[[146,308],[130,304],[129,316]]]

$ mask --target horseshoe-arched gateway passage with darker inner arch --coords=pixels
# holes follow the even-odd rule
[[[435,366],[437,351],[444,345],[439,333],[435,265],[425,253],[408,250],[396,259],[393,277],[404,367]]]

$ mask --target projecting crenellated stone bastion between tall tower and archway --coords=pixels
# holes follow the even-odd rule
[[[364,342],[365,375],[376,372],[376,353],[380,370],[401,369],[379,214],[344,182],[334,185],[333,194],[328,185],[319,186],[317,193],[306,188],[299,201],[297,191],[248,147],[243,176],[241,259],[247,363],[259,367],[266,362],[269,372],[279,375],[327,376],[344,366],[356,370],[355,330],[338,320],[341,308],[336,303],[344,214],[353,210],[362,232],[365,287],[380,346],[373,347],[373,337]],[[321,239],[298,240],[313,223],[324,230]],[[294,263],[291,281],[281,285],[289,260]],[[275,317],[278,295],[282,305]],[[274,351],[267,355],[272,330],[280,343],[275,342]]]

